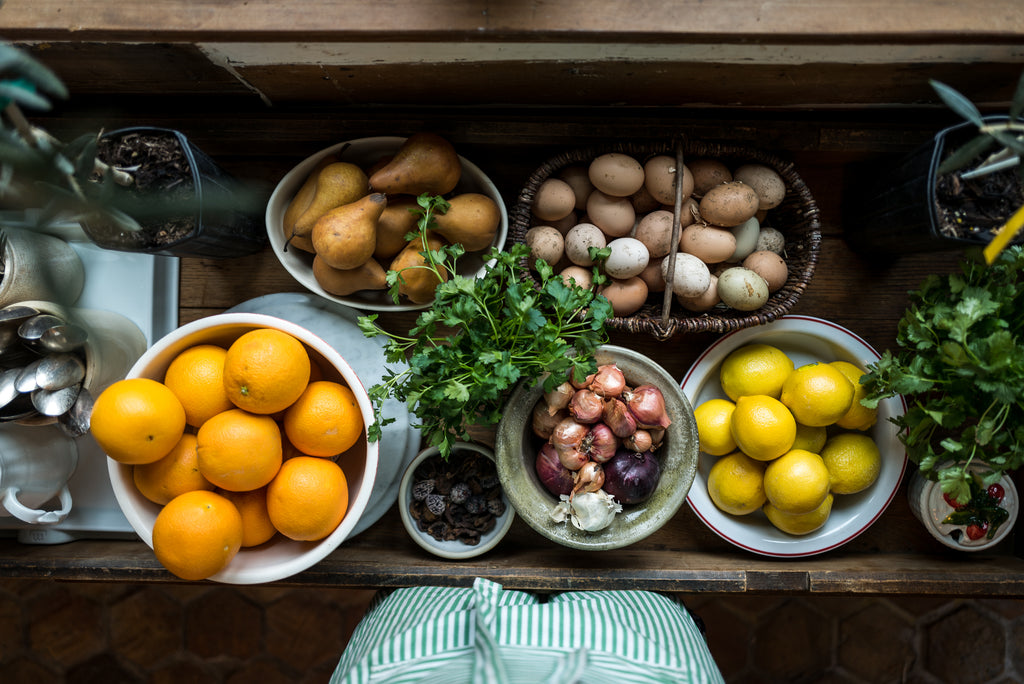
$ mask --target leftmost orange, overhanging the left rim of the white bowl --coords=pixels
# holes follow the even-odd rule
[[[115,461],[153,463],[181,439],[185,410],[164,384],[130,378],[99,393],[89,421],[96,443]]]

